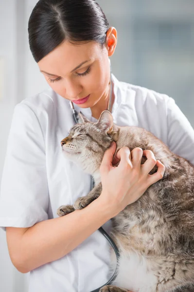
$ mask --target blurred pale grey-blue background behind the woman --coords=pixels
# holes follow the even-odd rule
[[[14,107],[48,87],[28,45],[36,0],[0,0],[0,181]],[[118,32],[114,75],[173,97],[194,127],[194,0],[98,0]],[[9,210],[8,210],[9,211]],[[0,229],[0,291],[27,292]]]

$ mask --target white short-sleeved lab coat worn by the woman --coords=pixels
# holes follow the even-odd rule
[[[114,123],[146,128],[194,164],[194,129],[174,99],[112,78]],[[89,108],[81,111],[96,121]],[[57,218],[59,206],[88,194],[90,176],[62,155],[60,142],[73,124],[69,101],[52,89],[16,105],[0,188],[1,228]],[[107,232],[110,226],[111,220],[103,225]],[[109,243],[97,230],[68,255],[30,272],[29,292],[90,292],[109,280],[109,263]]]

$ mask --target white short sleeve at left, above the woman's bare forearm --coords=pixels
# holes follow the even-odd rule
[[[25,103],[14,108],[0,186],[0,227],[31,227],[48,219],[45,144]]]

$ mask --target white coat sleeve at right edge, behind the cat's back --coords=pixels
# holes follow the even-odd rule
[[[177,155],[194,164],[194,129],[171,97],[166,102],[168,146]]]

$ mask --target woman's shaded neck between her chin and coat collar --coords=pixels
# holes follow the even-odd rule
[[[112,86],[113,86],[113,84],[112,84]],[[90,108],[91,115],[93,118],[98,120],[100,118],[101,113],[104,110],[107,110],[109,96],[110,96],[110,84],[108,85],[108,90],[106,90],[106,92],[103,94],[101,99],[93,107]],[[112,109],[113,102],[114,102],[114,93],[112,91],[110,110]]]

